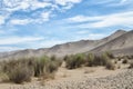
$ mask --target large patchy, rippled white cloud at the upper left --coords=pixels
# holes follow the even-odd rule
[[[50,19],[50,16],[53,16],[53,11],[63,11],[71,9],[74,3],[79,3],[81,0],[2,0],[1,1],[1,10],[4,14],[10,13],[13,16],[16,11],[27,11],[31,12],[38,9],[43,9],[42,11],[38,11],[35,14],[35,19],[29,19],[30,17],[23,17],[24,19],[18,18],[12,19],[12,16],[7,17],[8,23],[11,24],[27,24],[30,22],[44,22]],[[59,7],[62,6],[62,7]],[[45,12],[44,12],[45,11]],[[21,14],[19,14],[21,16]],[[30,14],[29,14],[30,16]],[[32,14],[31,14],[32,16]],[[22,16],[21,16],[22,17]],[[27,20],[28,19],[28,20]],[[30,20],[30,21],[29,21]],[[4,17],[0,16],[0,24],[4,24]]]

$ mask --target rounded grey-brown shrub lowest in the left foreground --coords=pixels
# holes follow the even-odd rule
[[[32,72],[24,66],[18,66],[12,69],[9,73],[9,80],[16,83],[22,83],[23,81],[31,80]]]

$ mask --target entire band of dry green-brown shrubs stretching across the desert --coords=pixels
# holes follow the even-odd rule
[[[65,56],[63,60],[58,59],[55,56],[31,57],[18,60],[12,59],[0,62],[0,76],[2,76],[1,79],[3,81],[22,83],[31,81],[33,77],[43,78],[43,80],[49,78],[53,79],[62,61],[65,61],[66,69],[104,66],[105,69],[114,70],[119,61],[125,65],[129,63],[129,68],[133,68],[132,59],[133,56],[114,57],[111,52],[104,52],[100,56],[93,53],[78,53]]]

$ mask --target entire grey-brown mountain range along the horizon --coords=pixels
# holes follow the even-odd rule
[[[43,55],[63,57],[81,52],[112,51],[115,55],[130,55],[133,49],[133,31],[117,30],[111,36],[100,40],[80,40],[62,44],[55,44],[51,48],[25,49],[0,53],[0,59],[16,59],[22,57],[40,57]]]

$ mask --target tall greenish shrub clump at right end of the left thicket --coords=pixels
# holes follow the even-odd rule
[[[34,77],[49,77],[48,75],[54,73],[61,66],[61,63],[62,61],[57,59],[55,57],[49,58],[47,56],[43,56],[35,61]]]

